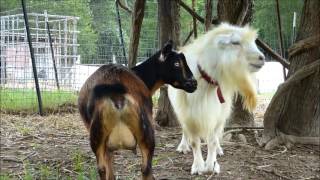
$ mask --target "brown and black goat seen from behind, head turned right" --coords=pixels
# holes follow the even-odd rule
[[[135,151],[136,145],[142,154],[142,178],[154,179],[151,97],[165,83],[187,92],[197,87],[184,55],[172,50],[171,42],[132,70],[104,65],[87,79],[79,94],[79,111],[101,179],[114,179],[113,151]]]

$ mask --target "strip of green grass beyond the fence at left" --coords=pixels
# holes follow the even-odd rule
[[[41,91],[43,109],[55,109],[65,104],[75,104],[77,95],[70,91]],[[37,111],[38,100],[33,89],[0,88],[2,111]]]

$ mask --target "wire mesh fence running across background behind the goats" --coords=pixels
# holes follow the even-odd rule
[[[134,1],[124,0],[127,7]],[[204,17],[204,3],[197,1],[196,12]],[[274,4],[255,3],[253,25],[263,29],[261,38],[279,52]],[[217,1],[214,0],[214,7]],[[74,105],[84,81],[102,64],[127,65],[131,15],[115,1],[61,0],[26,1],[27,15],[39,86],[45,110],[62,111]],[[187,1],[191,6],[191,1]],[[258,13],[274,12],[267,23]],[[193,23],[181,9],[181,42]],[[288,8],[286,8],[288,9]],[[297,9],[299,17],[299,9]],[[281,12],[293,14],[282,9]],[[216,13],[214,11],[214,13]],[[216,14],[214,14],[216,15]],[[286,16],[287,17],[287,16]],[[1,0],[0,8],[0,100],[1,111],[38,111],[30,49],[20,0]],[[292,44],[293,18],[284,19],[285,48]],[[288,21],[288,22],[287,22]],[[142,25],[138,62],[152,55],[158,47],[157,0],[148,0]],[[289,30],[288,30],[289,29]],[[204,26],[198,23],[198,33]],[[269,58],[270,59],[270,58]]]

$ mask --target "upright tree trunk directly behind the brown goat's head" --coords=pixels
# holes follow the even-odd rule
[[[177,1],[158,0],[158,8],[160,23],[160,47],[162,47],[169,39],[173,40],[176,46],[179,45],[180,17]],[[160,88],[158,107],[159,108],[155,120],[160,126],[178,125],[177,117],[168,98],[167,87]]]

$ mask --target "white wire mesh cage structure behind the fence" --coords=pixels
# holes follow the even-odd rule
[[[80,58],[77,53],[77,21],[71,16],[29,13],[29,23],[33,50],[38,70],[40,86],[55,90],[54,54],[58,81],[62,89],[70,89],[72,84],[71,68]],[[50,50],[45,18],[51,24],[53,52]],[[23,14],[1,16],[1,84],[4,88],[34,88],[27,33]]]

